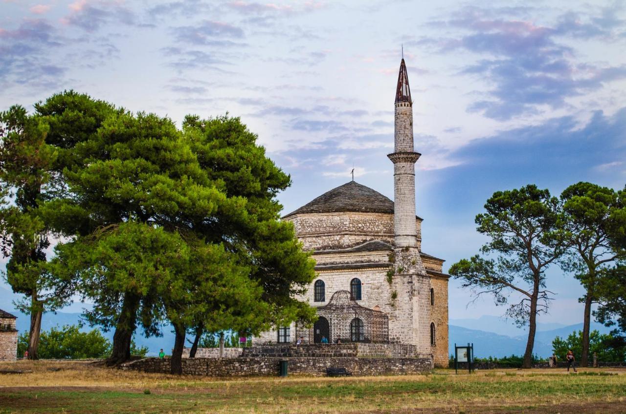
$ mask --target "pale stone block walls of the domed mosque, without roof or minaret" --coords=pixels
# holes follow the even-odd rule
[[[394,263],[398,250],[394,253],[384,249],[346,251],[367,241],[393,245],[393,217],[378,213],[312,213],[287,218],[294,223],[304,248],[314,250],[313,258],[317,262],[317,277],[299,300],[312,306],[327,305],[336,291],[350,291],[351,281],[356,278],[361,283],[361,298],[357,303],[389,316],[389,341],[419,346],[423,355],[432,355],[436,365],[444,366],[448,363],[447,278],[442,276],[433,281],[432,276],[389,275],[394,268],[398,271]],[[416,230],[419,245],[421,220],[416,220]],[[438,273],[442,270],[443,261],[437,258],[421,255],[421,261],[423,268],[420,266],[419,274],[423,274],[424,269]],[[403,273],[409,271],[405,269]],[[324,282],[324,297],[316,301],[314,286],[318,280]],[[431,288],[435,305],[431,305]],[[431,345],[431,323],[434,324],[434,345]],[[296,333],[294,323],[289,328],[288,341],[295,343],[300,333]],[[331,332],[330,340],[334,339]],[[254,343],[277,343],[278,340],[277,330],[270,330],[255,337]]]

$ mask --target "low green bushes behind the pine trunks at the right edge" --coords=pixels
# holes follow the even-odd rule
[[[597,353],[598,361],[622,362],[626,360],[626,341],[619,336],[600,333],[593,330],[589,334],[589,353]],[[572,350],[574,357],[580,361],[583,350],[583,332],[573,331],[567,339],[557,336],[552,341],[552,350],[561,361],[565,361],[565,354]]]

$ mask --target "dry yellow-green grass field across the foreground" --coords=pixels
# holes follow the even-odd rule
[[[626,413],[626,370],[215,379],[0,363],[0,413]]]

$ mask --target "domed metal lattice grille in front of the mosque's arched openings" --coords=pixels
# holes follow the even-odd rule
[[[351,299],[351,292],[339,290],[333,293],[325,306],[317,308],[317,315],[329,322],[329,342],[389,342],[389,318],[381,312],[365,308]],[[361,322],[354,322],[357,319]],[[304,343],[314,343],[316,336],[313,328],[306,328],[302,323],[295,325],[295,338],[302,337]],[[317,338],[319,341],[319,338]]]

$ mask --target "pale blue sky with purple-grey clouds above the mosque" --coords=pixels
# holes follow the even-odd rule
[[[285,211],[353,167],[393,197],[401,45],[423,248],[444,270],[478,252],[474,217],[494,191],[623,188],[622,1],[0,0],[0,108],[75,89],[179,123],[228,112],[291,174]],[[578,283],[555,268],[548,286],[557,299],[541,321],[582,321]],[[451,318],[503,313],[466,308],[454,281],[449,300]]]

